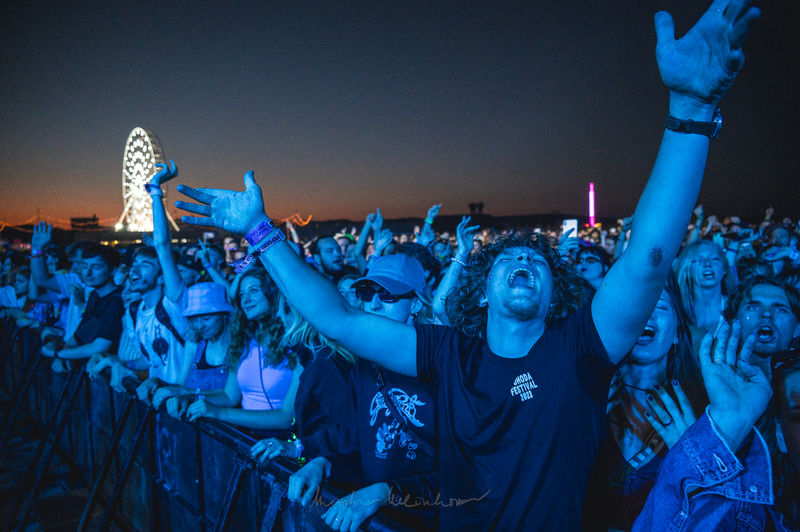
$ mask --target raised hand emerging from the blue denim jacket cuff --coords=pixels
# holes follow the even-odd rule
[[[722,431],[731,449],[736,450],[772,397],[769,377],[751,364],[756,331],[739,349],[741,325],[723,323],[715,336],[706,334],[700,345],[700,371],[703,373],[709,415]]]

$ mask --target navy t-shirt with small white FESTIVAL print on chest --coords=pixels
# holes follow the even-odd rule
[[[579,530],[614,366],[590,305],[502,358],[418,325],[417,372],[438,398],[441,530]]]

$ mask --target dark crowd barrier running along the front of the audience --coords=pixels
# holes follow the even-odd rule
[[[256,464],[250,434],[156,412],[136,399],[134,383],[117,392],[105,378],[87,378],[82,366],[54,373],[39,345],[36,331],[0,322],[0,388],[10,396],[0,410],[0,449],[21,419],[33,421],[39,438],[15,490],[8,530],[25,527],[55,456],[74,473],[73,486],[88,488],[79,531],[97,520],[101,506],[100,530],[112,521],[122,530],[330,530],[319,516],[341,490],[325,485],[315,504],[291,503],[285,494],[296,464],[282,458]],[[362,528],[408,530],[381,513]]]

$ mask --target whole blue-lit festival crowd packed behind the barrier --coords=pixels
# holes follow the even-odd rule
[[[290,500],[344,488],[335,530],[379,509],[415,529],[798,528],[800,223],[695,206],[758,16],[717,0],[676,41],[656,15],[670,117],[615,226],[465,216],[453,235],[434,205],[411,235],[378,209],[302,241],[248,172],[244,191],[180,185],[185,222],[236,238],[175,245],[171,163],[148,242],[62,248],[40,223],[29,256],[4,249],[2,313],[41,331],[52,371],[251,430],[253,460],[296,460]]]

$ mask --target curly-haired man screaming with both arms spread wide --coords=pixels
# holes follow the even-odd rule
[[[575,309],[575,273],[544,238],[513,236],[471,258],[460,330],[400,324],[355,310],[306,267],[264,213],[261,188],[180,190],[198,225],[246,234],[280,290],[322,334],[362,358],[439,390],[442,529],[574,530],[602,439],[614,365],[641,334],[664,287],[702,181],[715,108],[742,66],[759,11],[716,0],[680,40],[655,17],[670,89],[667,130],[636,209],[627,251],[591,305]],[[488,274],[488,275],[486,275]],[[387,347],[390,346],[390,349]]]

